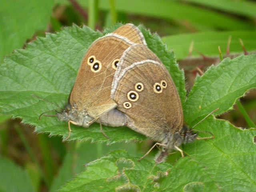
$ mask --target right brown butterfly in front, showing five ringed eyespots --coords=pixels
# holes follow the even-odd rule
[[[169,150],[179,150],[198,133],[183,125],[180,97],[159,58],[143,44],[130,46],[123,54],[112,82],[111,98],[126,114],[127,126],[163,146],[156,162]]]

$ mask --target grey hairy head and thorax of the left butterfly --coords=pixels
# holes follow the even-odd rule
[[[62,112],[57,114],[57,116],[61,121],[72,121],[74,122],[73,124],[83,127],[90,126],[90,122],[94,120],[94,118],[88,115],[86,110],[78,110],[76,104],[73,106],[68,104]]]

